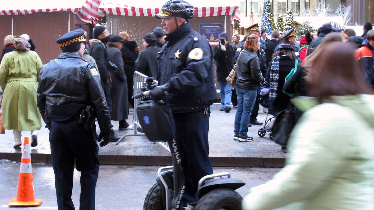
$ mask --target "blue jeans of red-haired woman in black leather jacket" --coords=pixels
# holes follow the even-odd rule
[[[236,87],[238,108],[235,115],[234,133],[246,136],[248,132],[249,116],[256,102],[257,90],[247,90]]]

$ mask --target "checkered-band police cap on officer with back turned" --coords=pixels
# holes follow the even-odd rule
[[[80,43],[85,42],[84,30],[82,28],[65,33],[56,40],[60,44],[62,52],[77,52],[80,49]]]

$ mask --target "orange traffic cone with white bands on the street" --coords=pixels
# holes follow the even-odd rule
[[[32,179],[30,140],[24,137],[21,159],[21,170],[19,172],[17,198],[8,203],[11,207],[39,206],[43,201],[34,196],[34,181]]]

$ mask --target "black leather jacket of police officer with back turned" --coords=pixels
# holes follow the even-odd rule
[[[61,53],[40,70],[37,105],[44,117],[48,114],[77,115],[87,105],[92,105],[100,130],[111,131],[110,113],[98,73],[76,53]]]

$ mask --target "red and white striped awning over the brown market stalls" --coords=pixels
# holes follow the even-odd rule
[[[150,7],[151,3],[147,2],[147,7],[141,6],[144,2],[138,2],[138,5],[127,6],[119,3],[117,0],[20,0],[20,3],[1,3],[0,15],[24,15],[38,12],[57,12],[71,11],[78,17],[88,23],[99,19],[104,14],[124,15],[124,16],[148,16],[152,17],[161,11],[160,8]],[[117,3],[116,3],[117,1]],[[203,3],[205,5],[217,5],[217,0]],[[153,1],[154,5],[159,2]],[[197,3],[197,2],[191,2]],[[194,4],[193,4],[194,5]],[[240,11],[238,6],[197,6],[195,7],[195,17],[209,17],[230,15],[232,20],[240,21]]]

